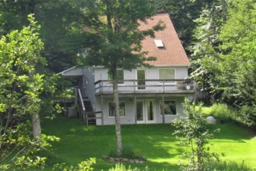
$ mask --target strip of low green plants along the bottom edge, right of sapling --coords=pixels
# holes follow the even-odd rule
[[[235,161],[222,161],[222,162],[214,162],[211,165],[210,170],[213,171],[253,171],[252,168],[248,167],[242,163],[236,163]]]

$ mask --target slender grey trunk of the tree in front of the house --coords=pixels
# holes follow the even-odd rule
[[[111,70],[113,78],[113,108],[115,115],[116,125],[116,155],[120,157],[122,155],[122,135],[120,125],[120,113],[119,113],[119,99],[118,99],[118,80],[116,75],[116,67]]]

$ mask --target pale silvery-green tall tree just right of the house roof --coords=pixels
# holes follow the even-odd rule
[[[194,38],[190,51],[192,60],[192,77],[196,79],[198,87],[213,98],[219,97],[222,91],[216,76],[220,70],[216,67],[219,61],[220,28],[223,24],[223,12],[220,0],[214,1],[202,11],[200,17],[195,20],[197,27],[194,30]]]

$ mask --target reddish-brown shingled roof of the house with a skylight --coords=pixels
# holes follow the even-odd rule
[[[190,62],[184,51],[178,35],[172,25],[168,14],[156,14],[147,20],[147,23],[141,23],[139,29],[146,30],[155,26],[159,20],[166,25],[163,31],[155,32],[155,38],[146,37],[142,41],[142,50],[148,51],[147,56],[156,56],[156,61],[148,61],[148,64],[154,66],[188,66]],[[157,48],[154,40],[162,40],[164,48]]]

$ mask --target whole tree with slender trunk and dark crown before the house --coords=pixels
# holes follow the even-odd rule
[[[120,127],[120,113],[118,100],[117,68],[131,70],[140,66],[148,67],[144,63],[146,52],[141,52],[141,41],[146,36],[154,36],[154,31],[164,29],[159,23],[148,30],[139,30],[139,22],[145,22],[147,18],[156,13],[151,0],[95,0],[92,3],[93,10],[82,9],[85,16],[92,16],[88,21],[87,29],[91,30],[91,44],[88,44],[86,58],[80,58],[83,65],[104,66],[108,69],[113,79],[113,108],[116,125],[117,155],[122,154],[122,136]]]

